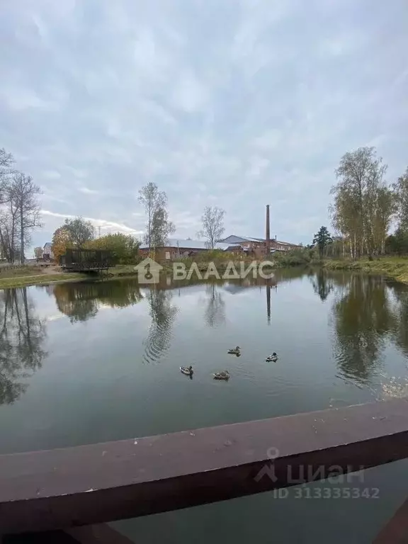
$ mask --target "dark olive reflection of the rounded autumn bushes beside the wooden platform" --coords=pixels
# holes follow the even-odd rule
[[[125,307],[142,300],[134,280],[60,283],[55,285],[54,295],[58,310],[67,315],[72,323],[95,317],[100,305]]]

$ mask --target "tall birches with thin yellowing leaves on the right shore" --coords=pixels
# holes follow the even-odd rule
[[[329,212],[343,256],[408,252],[408,168],[391,184],[385,181],[386,171],[374,147],[341,157]],[[397,229],[388,237],[392,222]]]

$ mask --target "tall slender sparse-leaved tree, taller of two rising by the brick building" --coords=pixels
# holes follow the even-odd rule
[[[145,242],[149,249],[165,245],[169,234],[176,230],[174,224],[169,221],[169,213],[166,210],[166,193],[159,191],[156,183],[150,181],[140,189],[139,201],[145,207],[147,215]]]

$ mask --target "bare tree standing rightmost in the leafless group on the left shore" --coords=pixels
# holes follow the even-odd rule
[[[17,172],[11,184],[11,200],[18,210],[18,229],[20,235],[21,264],[24,262],[24,248],[30,242],[30,234],[35,227],[40,227],[40,187],[35,185],[31,176]]]

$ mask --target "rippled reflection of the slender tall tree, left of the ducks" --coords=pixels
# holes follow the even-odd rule
[[[171,305],[173,293],[170,290],[152,288],[148,300],[152,323],[144,344],[143,359],[148,363],[156,362],[162,353],[169,349],[171,340],[171,326],[179,308]]]

